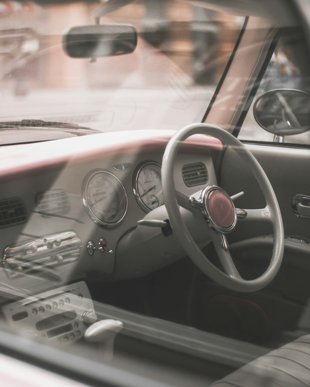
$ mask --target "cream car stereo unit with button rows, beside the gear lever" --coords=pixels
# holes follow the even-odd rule
[[[72,344],[95,323],[93,301],[84,281],[5,305],[5,318],[18,332],[56,344]]]

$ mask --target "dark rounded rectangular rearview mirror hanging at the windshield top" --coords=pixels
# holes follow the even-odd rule
[[[131,24],[94,24],[72,27],[62,36],[65,53],[71,58],[99,58],[132,53],[138,33]]]

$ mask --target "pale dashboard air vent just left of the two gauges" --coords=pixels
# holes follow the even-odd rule
[[[69,211],[69,197],[64,191],[46,191],[36,195],[40,214],[64,215]]]

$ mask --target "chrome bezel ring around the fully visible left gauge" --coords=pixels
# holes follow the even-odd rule
[[[87,199],[88,184],[89,184],[90,180],[95,175],[99,175],[99,174],[108,175],[110,178],[112,177],[115,180],[115,182],[117,184],[119,184],[119,186],[122,190],[122,193],[124,194],[124,199],[125,199],[124,212],[123,212],[122,216],[115,222],[104,222],[101,219],[99,219],[98,217],[96,217],[95,214],[93,213],[93,211],[91,211],[90,205],[88,204],[88,199]],[[102,170],[102,169],[92,170],[84,177],[84,180],[82,183],[82,199],[83,199],[83,204],[84,204],[85,210],[86,210],[88,216],[91,218],[91,220],[94,223],[96,223],[99,226],[104,227],[104,228],[114,228],[114,227],[118,226],[123,221],[123,219],[126,215],[126,212],[127,212],[128,201],[127,201],[127,194],[126,194],[125,188],[122,185],[121,180],[119,180],[115,175],[113,175],[113,173],[106,171],[106,170]]]

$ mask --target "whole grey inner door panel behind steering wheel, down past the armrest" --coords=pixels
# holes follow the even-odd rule
[[[284,233],[310,241],[310,218],[297,217],[291,203],[296,194],[310,195],[310,149],[248,144],[248,149],[261,164],[276,193]],[[224,154],[220,184],[230,195],[243,191],[235,201],[236,207],[262,208],[265,199],[253,174],[232,149]],[[247,279],[260,276],[269,265],[272,255],[272,228],[265,223],[242,223],[228,235],[230,251],[241,275]],[[256,237],[256,238],[255,238]],[[246,240],[244,243],[241,241]],[[284,257],[279,273],[272,283],[261,291],[240,295],[255,301],[270,320],[270,346],[310,332],[310,243],[295,238],[286,239]],[[295,247],[296,245],[296,247]],[[232,294],[221,289],[220,294]]]

